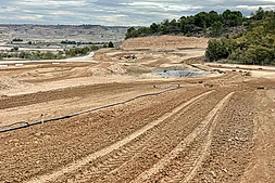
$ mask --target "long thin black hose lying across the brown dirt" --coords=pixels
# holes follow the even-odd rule
[[[103,105],[103,106],[96,107],[96,108],[90,108],[90,109],[74,113],[74,114],[71,114],[71,115],[65,115],[65,116],[60,116],[60,117],[55,117],[55,118],[45,119],[43,121],[39,120],[39,121],[33,121],[33,122],[27,122],[27,121],[14,122],[14,123],[9,125],[9,126],[0,127],[0,133],[14,131],[14,130],[20,130],[20,129],[36,126],[36,125],[39,125],[39,123],[46,123],[46,122],[50,122],[50,121],[57,121],[57,120],[61,120],[61,119],[72,118],[72,117],[79,116],[79,115],[83,115],[83,114],[97,112],[97,110],[100,110],[100,109],[104,109],[104,108],[113,107],[113,106],[116,106],[116,105],[125,104],[125,103],[128,103],[130,101],[137,100],[139,97],[159,95],[159,94],[162,94],[162,93],[165,93],[165,92],[177,90],[179,88],[182,88],[182,87],[179,87],[179,84],[178,84],[177,87],[173,87],[173,88],[170,87],[170,88],[167,88],[165,90],[162,90],[160,92],[136,95],[136,96],[130,97],[126,101],[122,101],[122,102],[117,102],[117,103],[113,103],[113,104],[109,104],[109,105]]]

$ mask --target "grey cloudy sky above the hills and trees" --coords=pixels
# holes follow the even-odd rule
[[[259,6],[275,10],[275,0],[0,0],[1,24],[150,25],[201,11]]]

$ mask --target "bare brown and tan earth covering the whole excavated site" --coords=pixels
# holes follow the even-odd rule
[[[0,133],[0,183],[273,183],[274,68],[201,63],[205,39],[148,39],[89,62],[0,67],[0,130],[163,91]],[[208,75],[152,73],[167,67]]]

